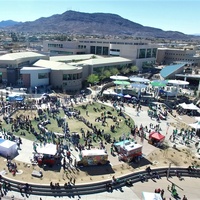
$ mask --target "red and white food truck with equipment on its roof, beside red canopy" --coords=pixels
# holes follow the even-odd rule
[[[114,147],[118,152],[119,160],[125,162],[130,162],[142,155],[142,145],[129,140],[114,143]]]

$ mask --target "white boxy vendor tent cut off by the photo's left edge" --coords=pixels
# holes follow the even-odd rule
[[[0,155],[13,158],[17,154],[17,144],[10,140],[0,140]]]

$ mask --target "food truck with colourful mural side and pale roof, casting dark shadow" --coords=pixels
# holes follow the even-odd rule
[[[104,165],[108,163],[108,154],[104,149],[82,150],[78,165]]]

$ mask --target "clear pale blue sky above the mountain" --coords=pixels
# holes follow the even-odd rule
[[[113,13],[143,26],[200,34],[200,0],[0,0],[0,21],[34,21],[67,10]]]

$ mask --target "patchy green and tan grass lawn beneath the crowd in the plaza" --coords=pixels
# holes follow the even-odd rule
[[[105,107],[105,109],[101,109],[101,106]],[[98,111],[95,112],[94,108],[96,108]],[[122,116],[118,116],[118,112],[116,110],[113,110],[113,108],[102,105],[100,103],[94,103],[92,105],[88,105],[87,109],[84,109],[82,106],[77,106],[74,109],[79,110],[80,111],[80,115],[83,116],[86,120],[88,120],[90,123],[93,124],[93,126],[96,126],[97,129],[103,129],[104,133],[109,133],[111,134],[111,137],[115,137],[117,140],[119,139],[119,137],[122,136],[122,134],[128,134],[130,133],[130,127],[126,125],[125,123],[125,118]],[[86,115],[86,110],[88,111],[88,116]],[[117,117],[117,120],[119,122],[119,127],[116,128],[115,132],[111,132],[110,130],[110,126],[114,125],[115,122],[113,122],[113,120],[111,118],[107,118],[107,125],[102,126],[102,122],[95,122],[95,119],[97,117],[100,117],[102,114],[106,113],[110,111],[112,113],[113,116]],[[47,113],[46,113],[47,114]],[[28,116],[29,118],[32,120],[32,125],[35,128],[36,132],[39,133],[39,130],[37,128],[37,123],[38,121],[34,120],[34,117],[38,117],[37,111],[33,110],[33,111],[24,111],[24,110],[20,110],[17,111],[16,113],[13,114],[12,118],[15,119],[16,116],[20,116],[20,115],[24,115],[24,116]],[[48,116],[48,114],[47,114]],[[64,118],[65,114],[63,112],[63,110],[60,110],[60,113],[57,115],[57,117],[61,117]],[[63,128],[62,127],[58,127],[57,124],[57,120],[53,119],[53,117],[48,117],[51,121],[51,124],[48,124],[46,126],[46,128],[49,131],[52,132],[57,132],[57,133],[63,133]],[[126,118],[128,119],[129,117],[126,115]],[[87,130],[92,131],[89,127],[87,127],[83,122],[78,121],[77,119],[68,119],[67,118],[67,123],[70,129],[70,132],[77,132],[79,133],[80,137],[81,137],[81,133],[80,133],[80,129],[82,128],[85,132],[87,132]],[[130,123],[131,125],[134,125],[134,121],[132,119],[130,119]],[[6,131],[11,131],[11,125],[10,124],[6,124],[5,121],[2,122],[2,127],[6,129]],[[21,136],[20,133],[21,132],[25,132],[26,136]],[[28,132],[27,130],[19,130],[18,132],[13,132],[15,135],[20,136],[20,137],[25,137],[26,139],[29,140],[36,140],[35,136]]]

